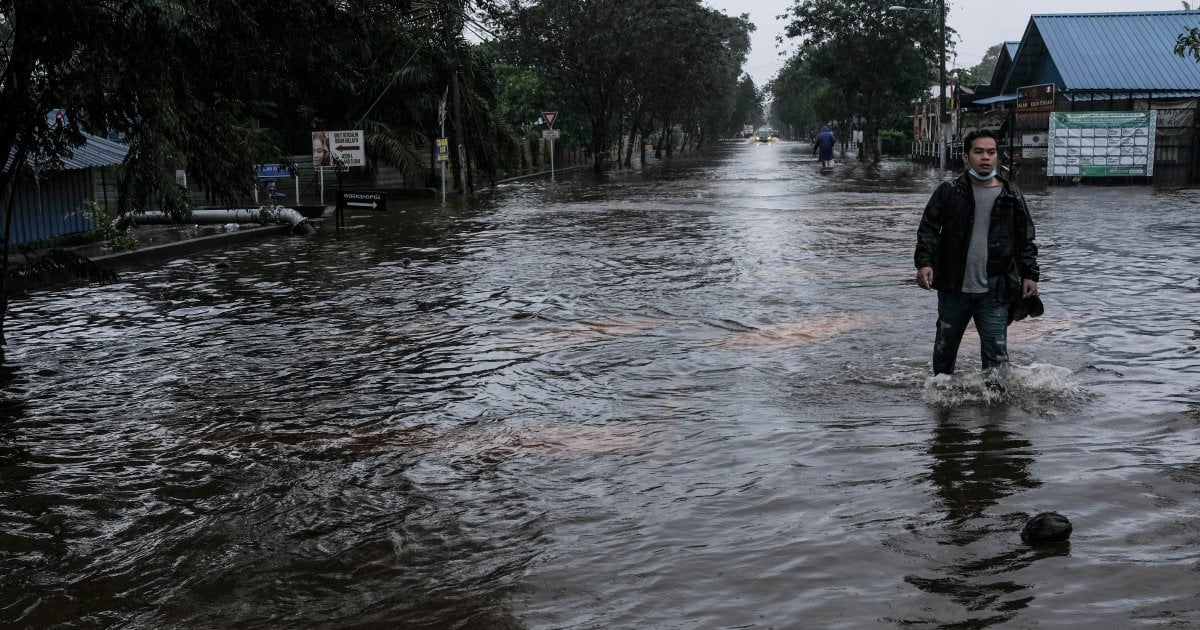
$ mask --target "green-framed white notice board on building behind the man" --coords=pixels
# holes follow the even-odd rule
[[[1046,175],[1153,175],[1156,114],[1153,109],[1051,113]]]

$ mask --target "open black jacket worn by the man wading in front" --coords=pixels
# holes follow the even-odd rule
[[[996,301],[1013,302],[1021,296],[1022,280],[1039,280],[1038,246],[1025,197],[1008,180],[1000,181],[1003,190],[991,209],[988,229],[988,288]],[[934,268],[934,288],[937,290],[962,290],[974,224],[971,186],[966,173],[938,186],[925,204],[925,214],[917,229],[913,262],[917,269]]]

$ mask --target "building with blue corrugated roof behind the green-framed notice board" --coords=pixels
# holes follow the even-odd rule
[[[1046,176],[1044,143],[1051,112],[1153,109],[1158,121],[1153,181],[1195,184],[1200,64],[1176,55],[1175,42],[1196,26],[1198,11],[1031,16],[1020,42],[1006,42],[991,95],[968,107],[1007,114],[1002,140],[1009,146],[1014,174],[1024,181]],[[1052,86],[1049,103],[1025,107],[1022,94],[1027,97],[1034,86]],[[1043,144],[1031,145],[1031,138]]]

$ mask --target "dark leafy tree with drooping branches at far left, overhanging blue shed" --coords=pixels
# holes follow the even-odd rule
[[[30,161],[53,166],[84,133],[118,133],[131,146],[122,198],[181,212],[186,199],[169,164],[191,163],[220,193],[250,184],[269,138],[236,98],[240,77],[204,64],[234,55],[214,48],[218,8],[187,11],[167,0],[5,0],[0,2],[0,202],[4,277],[18,176]],[[48,112],[58,110],[54,116]],[[7,296],[0,292],[0,343]]]

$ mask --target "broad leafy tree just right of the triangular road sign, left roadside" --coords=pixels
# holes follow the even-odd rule
[[[623,130],[678,125],[696,144],[734,107],[752,25],[700,0],[516,1],[504,19],[511,59],[542,73],[559,102],[588,125],[601,170]]]

